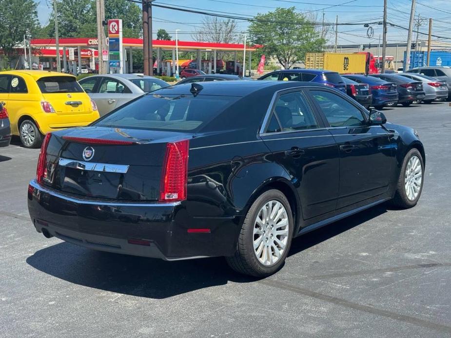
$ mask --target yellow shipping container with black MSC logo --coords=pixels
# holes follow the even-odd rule
[[[305,67],[340,74],[365,74],[367,55],[357,53],[307,53]]]

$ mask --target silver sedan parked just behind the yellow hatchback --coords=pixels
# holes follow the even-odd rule
[[[93,75],[81,79],[80,86],[96,102],[100,116],[144,93],[168,87],[159,78],[134,74]]]

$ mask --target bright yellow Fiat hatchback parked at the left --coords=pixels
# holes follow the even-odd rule
[[[76,77],[56,72],[0,72],[0,103],[8,110],[11,133],[26,148],[39,148],[50,131],[86,126],[99,117]]]

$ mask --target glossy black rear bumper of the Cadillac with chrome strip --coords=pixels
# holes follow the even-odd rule
[[[90,249],[168,261],[232,255],[239,223],[234,217],[193,218],[179,202],[80,199],[34,180],[28,187],[28,211],[36,230],[46,235]],[[209,233],[188,232],[206,227]]]

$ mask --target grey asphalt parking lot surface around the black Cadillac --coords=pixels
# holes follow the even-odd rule
[[[26,205],[39,150],[0,148],[0,337],[450,337],[451,107],[384,113],[425,144],[419,204],[297,238],[264,280],[45,239]]]

